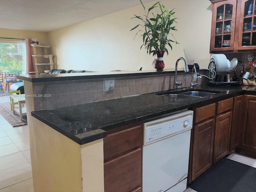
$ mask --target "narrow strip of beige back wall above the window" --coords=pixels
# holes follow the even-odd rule
[[[0,28],[0,37],[3,38],[37,38],[41,44],[48,44],[48,37],[46,32],[12,30]]]

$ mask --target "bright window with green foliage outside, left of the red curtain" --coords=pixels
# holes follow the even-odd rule
[[[0,38],[0,71],[25,74],[25,40]]]

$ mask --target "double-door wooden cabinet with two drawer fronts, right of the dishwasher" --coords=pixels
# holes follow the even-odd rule
[[[188,183],[229,153],[233,98],[194,108]]]

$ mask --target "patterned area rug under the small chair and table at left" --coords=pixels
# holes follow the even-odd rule
[[[10,102],[0,103],[0,114],[8,121],[13,127],[27,125],[27,116],[23,116],[23,121],[20,120],[18,114],[13,114],[11,111]]]

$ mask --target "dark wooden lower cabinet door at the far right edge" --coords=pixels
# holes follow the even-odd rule
[[[238,132],[236,152],[256,158],[256,96],[246,95],[245,100],[245,122]]]

